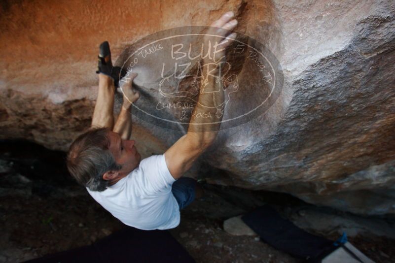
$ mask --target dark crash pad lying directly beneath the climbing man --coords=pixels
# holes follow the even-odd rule
[[[84,246],[27,263],[75,262],[184,262],[193,258],[167,230],[139,230],[127,227]]]

